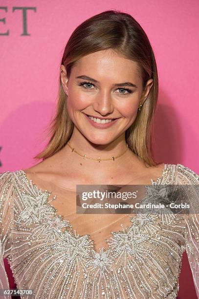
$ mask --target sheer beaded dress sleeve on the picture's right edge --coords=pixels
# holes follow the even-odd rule
[[[185,185],[184,190],[190,204],[190,212],[185,215],[185,250],[199,298],[199,175],[178,164],[178,182]]]

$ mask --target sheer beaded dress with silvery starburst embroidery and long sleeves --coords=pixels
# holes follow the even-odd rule
[[[165,164],[151,183],[199,185],[199,175]],[[137,214],[97,251],[57,214],[50,193],[23,170],[0,173],[0,289],[9,288],[7,258],[18,289],[33,291],[22,299],[174,299],[186,250],[199,297],[199,214]],[[199,194],[189,200],[198,206]]]

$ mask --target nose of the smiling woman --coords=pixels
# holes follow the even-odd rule
[[[114,110],[111,95],[108,91],[100,92],[94,100],[93,109],[105,116]]]

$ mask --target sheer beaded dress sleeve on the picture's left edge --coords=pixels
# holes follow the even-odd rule
[[[5,271],[3,258],[10,250],[11,230],[13,223],[13,181],[12,173],[0,173],[0,289],[9,289],[8,277]],[[2,292],[2,291],[1,291]],[[11,298],[10,295],[1,298]]]

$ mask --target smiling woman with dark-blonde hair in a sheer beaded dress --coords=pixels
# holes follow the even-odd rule
[[[132,16],[105,11],[74,30],[43,161],[0,176],[1,256],[18,288],[34,298],[176,298],[186,249],[199,296],[197,214],[148,215],[144,225],[133,214],[76,214],[76,185],[199,184],[152,157],[157,95],[154,53]],[[2,258],[1,273],[5,288]]]

